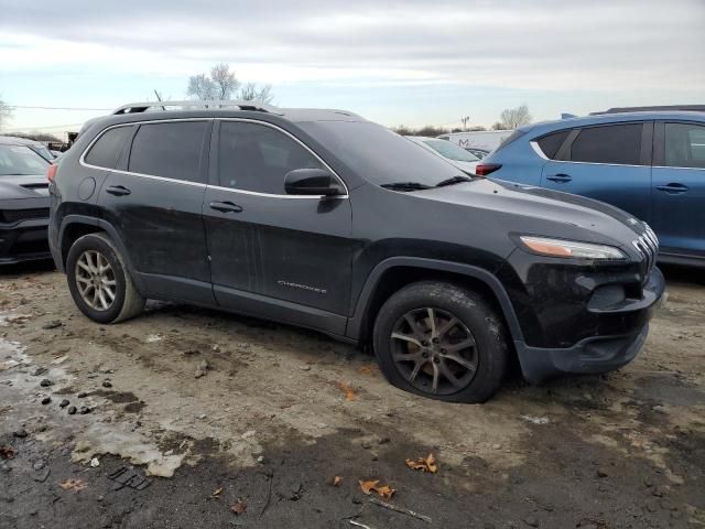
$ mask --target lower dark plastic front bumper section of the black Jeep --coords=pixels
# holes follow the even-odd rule
[[[637,332],[621,335],[590,336],[571,347],[532,347],[514,341],[524,378],[540,384],[562,374],[597,374],[619,369],[641,350],[649,334],[649,321],[660,304],[665,281],[654,268],[643,287],[643,296],[610,311],[611,316],[634,316],[643,322]]]

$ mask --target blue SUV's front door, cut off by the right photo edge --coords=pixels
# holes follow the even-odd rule
[[[705,123],[657,121],[652,186],[662,253],[705,257]]]

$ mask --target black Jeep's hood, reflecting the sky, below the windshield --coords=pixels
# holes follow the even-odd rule
[[[477,179],[413,195],[485,209],[508,231],[625,246],[646,231],[643,223],[608,204],[510,182]]]

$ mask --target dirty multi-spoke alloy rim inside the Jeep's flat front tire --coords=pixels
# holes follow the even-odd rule
[[[420,391],[449,395],[466,388],[478,367],[477,344],[455,315],[424,307],[408,312],[391,335],[399,373]]]

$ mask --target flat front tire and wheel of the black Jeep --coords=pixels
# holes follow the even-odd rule
[[[509,363],[508,334],[492,305],[441,281],[412,283],[390,296],[372,342],[390,384],[448,402],[487,401]]]

